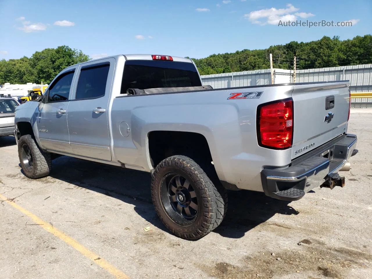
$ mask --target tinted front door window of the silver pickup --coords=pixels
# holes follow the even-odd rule
[[[48,102],[67,101],[74,72],[62,74],[49,88]]]

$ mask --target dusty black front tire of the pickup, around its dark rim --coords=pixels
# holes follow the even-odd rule
[[[22,148],[27,145],[32,155],[32,168],[28,169],[22,160]],[[48,176],[52,169],[51,154],[42,151],[31,135],[23,135],[18,141],[18,157],[26,177],[38,179]]]

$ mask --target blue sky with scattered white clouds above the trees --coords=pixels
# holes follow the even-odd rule
[[[0,59],[59,45],[92,58],[132,53],[202,58],[324,35],[371,34],[371,15],[371,0],[0,0]],[[282,19],[352,20],[353,26],[278,27]]]

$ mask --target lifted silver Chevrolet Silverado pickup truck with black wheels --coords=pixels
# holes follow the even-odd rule
[[[15,136],[31,179],[53,154],[151,172],[161,221],[197,239],[222,222],[227,190],[296,201],[343,187],[349,114],[349,81],[212,89],[190,59],[117,55],[61,71],[16,109]]]

